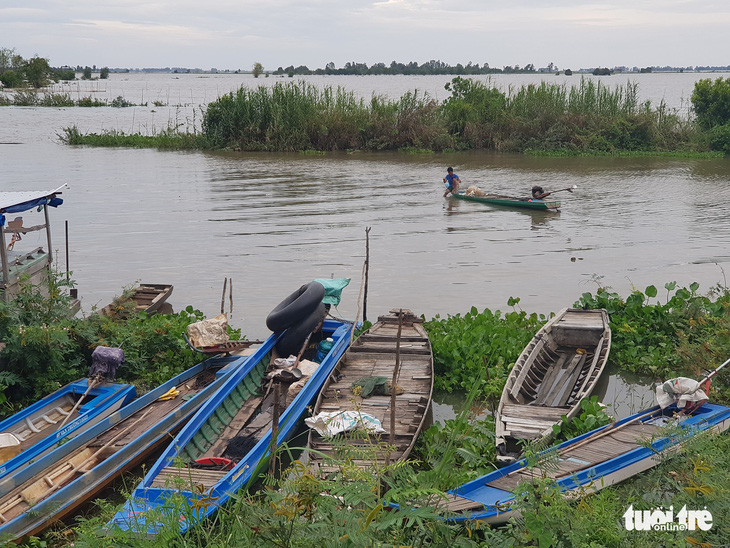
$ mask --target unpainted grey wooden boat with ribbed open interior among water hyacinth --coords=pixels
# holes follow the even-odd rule
[[[549,439],[596,387],[611,350],[608,313],[566,308],[535,334],[510,371],[497,406],[499,458],[519,456],[517,440]]]

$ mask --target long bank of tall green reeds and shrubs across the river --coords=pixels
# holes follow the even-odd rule
[[[503,91],[454,78],[439,103],[417,90],[393,100],[299,82],[241,87],[208,104],[201,132],[170,128],[142,139],[110,131],[69,144],[244,151],[495,150],[530,154],[722,154],[723,142],[664,103],[640,101],[638,84],[542,82]],[[727,143],[725,143],[727,144]]]

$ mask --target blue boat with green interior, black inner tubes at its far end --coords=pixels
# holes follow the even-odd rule
[[[269,337],[180,431],[109,527],[155,535],[162,523],[173,520],[184,532],[257,480],[272,446],[293,434],[306,407],[344,354],[352,329],[351,323],[324,321],[316,335],[332,338],[332,348],[288,405],[283,403],[287,391],[282,394],[276,387],[271,389],[266,373],[276,358],[275,346],[286,332]],[[277,421],[278,408],[283,411]],[[276,425],[276,433],[272,425]],[[178,508],[179,501],[183,506],[187,502],[189,512],[175,515],[175,505],[168,503],[173,497]]]

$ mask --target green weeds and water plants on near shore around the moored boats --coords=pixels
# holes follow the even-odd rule
[[[17,412],[69,381],[86,375],[98,345],[120,347],[125,365],[122,382],[149,390],[199,362],[180,333],[203,315],[193,307],[174,314],[146,313],[69,317],[67,286],[61,275],[51,279],[50,297],[26,285],[14,301],[0,301],[0,417]],[[703,434],[681,451],[662,457],[660,465],[599,493],[568,500],[543,471],[548,460],[532,455],[534,480],[518,487],[522,517],[500,527],[476,522],[452,524],[434,509],[447,489],[495,468],[493,410],[507,375],[522,349],[548,316],[520,309],[509,298],[509,311],[479,311],[424,318],[431,339],[436,388],[462,394],[464,406],[455,419],[435,423],[421,436],[411,459],[371,474],[342,463],[329,479],[302,473],[296,439],[279,448],[279,468],[247,492],[239,492],[215,517],[181,536],[177,522],[155,538],[129,538],[121,532],[100,533],[136,485],[139,476],[117,481],[106,500],[97,500],[75,519],[57,524],[27,547],[205,547],[216,546],[726,546],[730,529],[727,486],[730,485],[730,436]],[[707,293],[698,284],[666,283],[621,296],[607,287],[586,292],[575,303],[604,308],[613,332],[609,366],[619,375],[667,380],[700,378],[730,354],[730,289],[718,284]],[[365,325],[367,327],[367,324]],[[234,338],[240,332],[233,330]],[[714,403],[730,403],[730,372],[713,379]],[[564,423],[559,439],[570,439],[608,424],[592,398],[583,413]],[[373,449],[375,450],[375,448]],[[361,458],[361,457],[360,457]],[[281,464],[282,460],[285,463]],[[298,472],[298,473],[296,473]],[[144,470],[134,474],[144,473]],[[388,512],[384,503],[417,501],[408,512]],[[650,510],[705,508],[714,523],[707,531],[628,531],[623,514],[629,506]],[[187,504],[173,512],[185,515]]]

